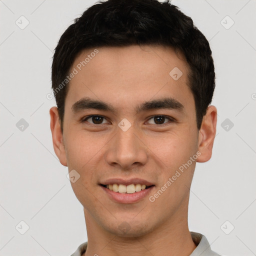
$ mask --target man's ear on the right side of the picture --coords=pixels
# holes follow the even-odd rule
[[[198,151],[201,154],[197,157],[197,162],[206,162],[211,157],[213,141],[216,134],[216,122],[217,109],[215,106],[208,106],[198,131]]]

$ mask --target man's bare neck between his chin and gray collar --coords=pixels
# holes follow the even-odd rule
[[[88,246],[84,256],[188,256],[196,248],[187,224],[186,216],[173,216],[151,232],[137,237],[123,237],[110,233],[97,224],[84,210]]]

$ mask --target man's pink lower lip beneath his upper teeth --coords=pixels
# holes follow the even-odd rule
[[[133,203],[141,200],[145,196],[148,195],[148,193],[152,190],[154,186],[150,186],[146,189],[140,190],[139,192],[134,192],[134,193],[119,193],[119,192],[114,192],[104,186],[101,186],[102,189],[108,194],[110,199],[114,200],[115,202],[119,203]]]

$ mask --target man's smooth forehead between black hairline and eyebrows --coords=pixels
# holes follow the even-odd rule
[[[117,107],[137,101],[170,96],[193,100],[188,87],[188,65],[180,52],[165,46],[130,45],[86,49],[74,60],[66,98],[75,102],[84,96]],[[192,99],[191,99],[192,98]]]

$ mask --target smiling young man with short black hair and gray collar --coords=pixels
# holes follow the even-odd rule
[[[195,162],[210,159],[211,50],[168,1],[108,0],[60,37],[53,146],[84,208],[77,255],[219,255],[187,223]]]

